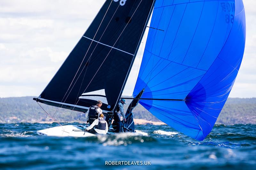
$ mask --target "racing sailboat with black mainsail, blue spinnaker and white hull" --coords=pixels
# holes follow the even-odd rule
[[[124,98],[132,99],[124,127],[135,132],[132,109],[140,103],[172,128],[203,140],[211,132],[242,62],[245,13],[240,0],[106,0],[34,100],[86,112],[100,99],[110,127],[147,27],[133,95]],[[37,133],[92,135],[80,125]]]

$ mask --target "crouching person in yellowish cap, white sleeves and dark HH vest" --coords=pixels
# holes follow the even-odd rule
[[[104,115],[101,113],[99,118],[93,121],[92,124],[86,128],[86,131],[92,134],[106,135],[108,133],[108,123],[103,119],[103,117]]]

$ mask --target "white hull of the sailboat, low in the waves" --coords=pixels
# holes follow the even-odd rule
[[[85,126],[83,125],[65,125],[57,126],[53,128],[38,130],[36,133],[40,136],[54,136],[54,137],[92,137],[96,136],[94,134],[85,132]],[[109,132],[109,135],[114,135],[116,133]],[[148,136],[148,133],[141,132],[140,130],[135,130],[134,135]]]

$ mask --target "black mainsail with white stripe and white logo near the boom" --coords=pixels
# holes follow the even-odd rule
[[[34,100],[86,112],[99,97],[112,112],[124,89],[154,0],[107,0]]]

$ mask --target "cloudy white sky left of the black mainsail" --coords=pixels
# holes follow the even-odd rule
[[[0,96],[39,95],[104,1],[0,1]]]

